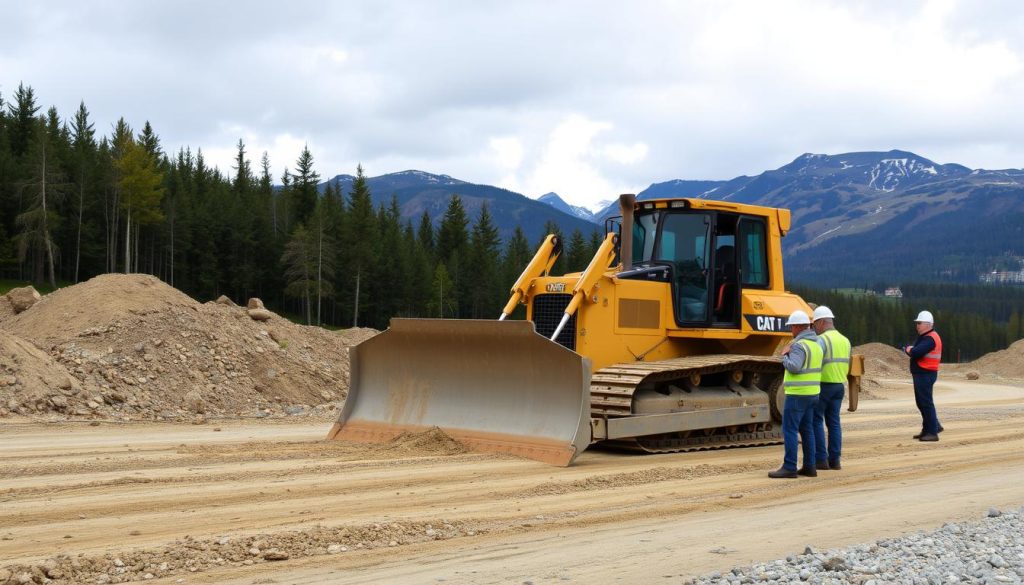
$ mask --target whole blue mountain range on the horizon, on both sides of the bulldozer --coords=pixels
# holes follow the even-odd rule
[[[338,175],[347,191],[353,177]],[[566,235],[600,231],[615,204],[596,213],[549,193],[538,200],[422,171],[368,180],[375,201],[398,198],[402,216],[438,221],[453,194],[471,220],[488,203],[503,238],[520,225],[531,243],[547,221]],[[617,197],[617,194],[609,194]],[[793,229],[782,240],[786,278],[820,287],[908,281],[977,281],[1024,256],[1024,170],[937,164],[905,151],[805,154],[757,175],[653,183],[639,199],[690,197],[783,207]]]

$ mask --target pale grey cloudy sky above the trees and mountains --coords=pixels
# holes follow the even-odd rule
[[[1024,167],[1024,3],[0,0],[0,96],[222,171],[407,169],[593,205],[807,152]]]

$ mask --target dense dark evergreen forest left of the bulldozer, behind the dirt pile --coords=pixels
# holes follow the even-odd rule
[[[68,116],[24,84],[0,94],[0,278],[147,273],[202,300],[259,296],[309,323],[382,328],[497,317],[539,243],[516,228],[503,244],[486,202],[471,215],[459,184],[440,218],[412,220],[396,199],[373,203],[361,168],[321,194],[308,149],[275,180],[265,154],[237,148],[230,169],[211,168],[200,150],[166,152],[148,122],[103,135],[84,103]],[[599,243],[580,228],[566,240],[556,270],[582,268]]]

